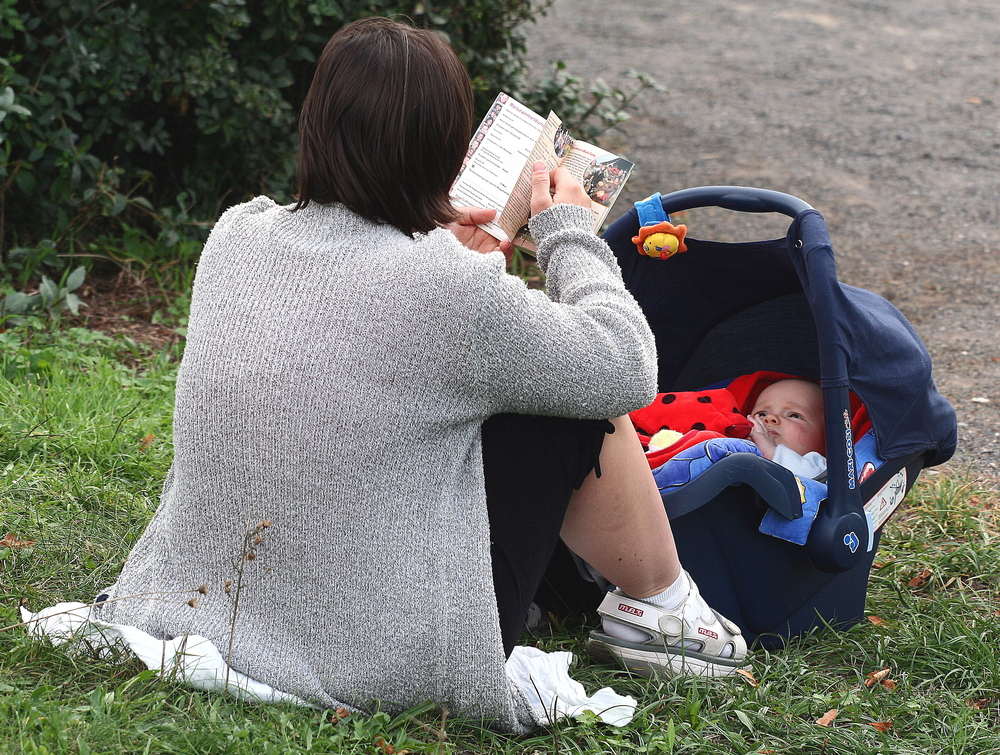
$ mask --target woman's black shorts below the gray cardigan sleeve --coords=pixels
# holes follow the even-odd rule
[[[559,530],[572,492],[592,470],[600,476],[601,447],[612,432],[607,420],[499,414],[483,423],[493,586],[506,655],[536,594],[556,612],[581,600],[597,606],[601,593],[579,576]]]

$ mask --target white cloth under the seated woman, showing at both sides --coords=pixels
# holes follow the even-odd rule
[[[57,603],[37,613],[22,607],[21,620],[28,623],[29,634],[47,638],[54,645],[75,640],[98,653],[129,650],[146,668],[195,689],[227,691],[249,702],[315,707],[300,697],[231,669],[219,648],[205,637],[185,635],[158,640],[141,629],[101,621],[96,613],[99,609],[86,603]],[[569,675],[572,660],[572,653],[546,653],[523,646],[515,647],[507,660],[507,678],[528,701],[538,725],[552,724],[584,711],[596,713],[612,726],[629,723],[635,714],[635,698],[619,695],[610,687],[588,696],[583,686]]]

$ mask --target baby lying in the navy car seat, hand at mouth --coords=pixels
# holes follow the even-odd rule
[[[779,380],[757,397],[747,416],[750,440],[765,459],[799,477],[826,471],[823,392],[808,380]]]

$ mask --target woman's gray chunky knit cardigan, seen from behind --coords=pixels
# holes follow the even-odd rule
[[[652,334],[589,223],[571,205],[532,220],[543,293],[447,230],[266,197],[226,211],[195,279],[173,465],[110,591],[175,594],[101,618],[208,637],[318,705],[431,700],[532,728],[504,675],[480,425],[652,400]]]

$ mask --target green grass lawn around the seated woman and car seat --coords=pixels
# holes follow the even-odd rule
[[[170,462],[177,357],[81,329],[0,333],[0,537],[37,541],[0,547],[0,626],[22,599],[86,601],[113,581]],[[885,623],[757,651],[756,687],[590,665],[581,628],[542,639],[578,654],[587,689],[639,700],[624,729],[591,717],[514,739],[433,706],[337,719],[250,705],[14,629],[0,632],[0,752],[1000,753],[1000,497],[925,474],[904,508],[869,591],[867,612]],[[895,688],[866,687],[882,668]],[[818,726],[831,708],[839,716]]]

